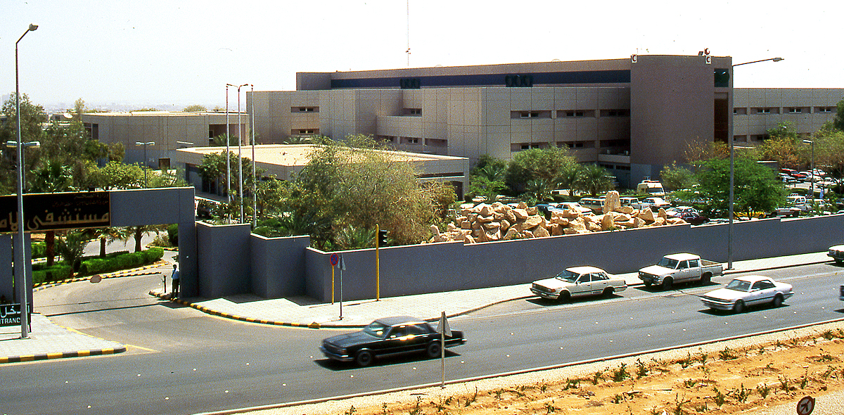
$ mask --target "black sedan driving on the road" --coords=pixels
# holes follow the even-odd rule
[[[372,321],[361,331],[328,337],[322,341],[320,350],[327,358],[341,362],[354,360],[360,366],[367,366],[376,357],[400,353],[440,356],[440,337],[427,321],[403,315]],[[446,348],[465,342],[463,331],[452,330],[451,336],[446,335]]]

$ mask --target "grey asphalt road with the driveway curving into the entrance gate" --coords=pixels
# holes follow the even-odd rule
[[[766,272],[793,283],[786,305],[713,313],[696,295],[630,288],[614,299],[558,305],[518,300],[452,319],[468,343],[446,357],[446,378],[598,358],[844,317],[844,268]],[[720,280],[723,281],[723,280]],[[227,321],[146,296],[160,276],[72,283],[35,297],[62,326],[128,345],[127,353],[6,364],[0,413],[195,413],[376,391],[439,380],[436,359],[405,356],[369,368],[328,362],[322,337],[337,331]]]

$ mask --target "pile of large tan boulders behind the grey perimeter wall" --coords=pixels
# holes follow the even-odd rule
[[[610,191],[602,214],[587,216],[575,209],[555,210],[551,211],[550,220],[546,220],[538,208],[528,208],[524,202],[516,208],[500,202],[491,205],[482,203],[474,208],[463,209],[457,221],[448,224],[444,232],[436,225],[431,225],[431,234],[434,236],[429,242],[463,240],[464,243],[473,244],[685,223],[680,218],[669,218],[662,208],[658,213],[653,213],[650,208],[639,210],[620,206],[619,192]]]

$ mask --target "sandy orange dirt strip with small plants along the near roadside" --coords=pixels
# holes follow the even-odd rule
[[[844,323],[262,414],[757,413],[844,390]],[[793,409],[791,410],[793,412]]]

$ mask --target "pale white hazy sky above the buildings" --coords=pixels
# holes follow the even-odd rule
[[[19,44],[20,89],[45,106],[212,108],[225,105],[225,84],[291,90],[296,72],[408,67],[406,0],[0,4],[0,95],[14,92],[14,42],[35,23]],[[844,88],[842,10],[840,0],[410,0],[410,66],[709,48],[735,63],[785,58],[736,68],[738,88]]]

